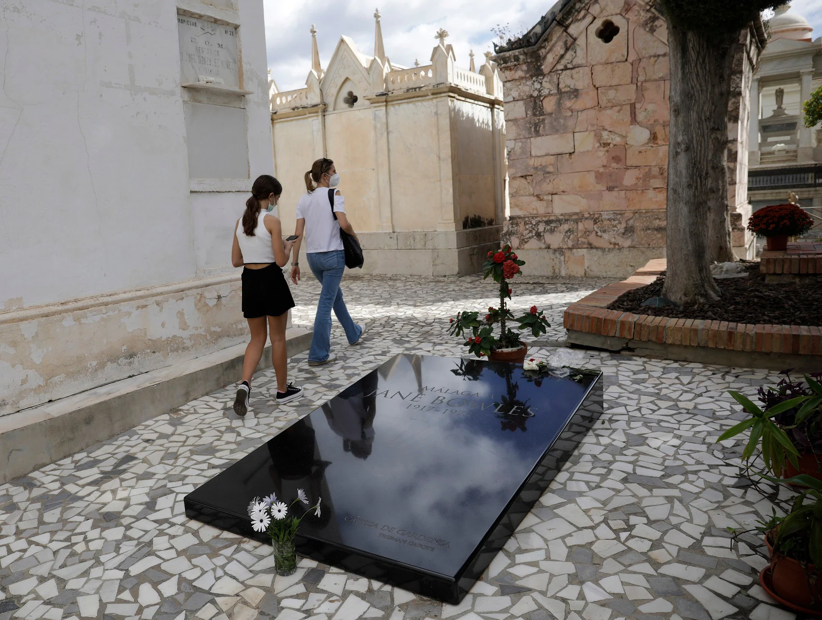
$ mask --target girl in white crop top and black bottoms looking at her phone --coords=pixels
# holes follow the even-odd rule
[[[237,388],[234,412],[245,416],[252,391],[254,370],[260,363],[266,338],[271,338],[271,362],[277,375],[277,402],[302,397],[288,379],[285,326],[294,300],[283,267],[289,262],[293,241],[283,241],[279,218],[271,212],[283,186],[268,174],[256,178],[246,210],[234,225],[231,264],[242,267],[242,315],[251,330],[251,342],[242,362],[242,383]]]

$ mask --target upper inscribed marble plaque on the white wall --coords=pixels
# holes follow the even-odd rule
[[[182,84],[212,80],[239,88],[237,29],[200,17],[177,16]]]

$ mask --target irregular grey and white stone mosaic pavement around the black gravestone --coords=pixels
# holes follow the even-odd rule
[[[515,311],[547,308],[547,338],[561,339],[562,310],[603,283],[517,282]],[[294,324],[311,324],[316,282],[292,288]],[[185,494],[390,356],[463,354],[446,317],[496,304],[492,291],[478,277],[347,278],[367,337],[348,347],[335,324],[337,363],[294,357],[306,388],[294,406],[272,402],[269,370],[245,420],[229,386],[0,485],[0,620],[794,618],[758,585],[760,536],[731,544],[726,530],[780,499],[740,477],[740,442],[715,443],[741,419],[727,390],[753,397],[777,379],[761,370],[586,351],[604,373],[605,414],[458,606],[304,558],[274,578],[269,546],[185,517]]]

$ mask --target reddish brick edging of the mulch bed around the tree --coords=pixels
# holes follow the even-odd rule
[[[649,260],[622,282],[608,284],[566,308],[569,332],[728,351],[822,355],[822,328],[807,325],[731,323],[709,319],[672,319],[635,315],[605,306],[622,293],[644,287],[665,269],[665,259]]]

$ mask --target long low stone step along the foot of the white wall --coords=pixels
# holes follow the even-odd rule
[[[307,351],[311,337],[310,329],[289,328],[289,357]],[[0,417],[0,483],[236,383],[245,349],[238,344]],[[270,365],[269,346],[257,370]]]

